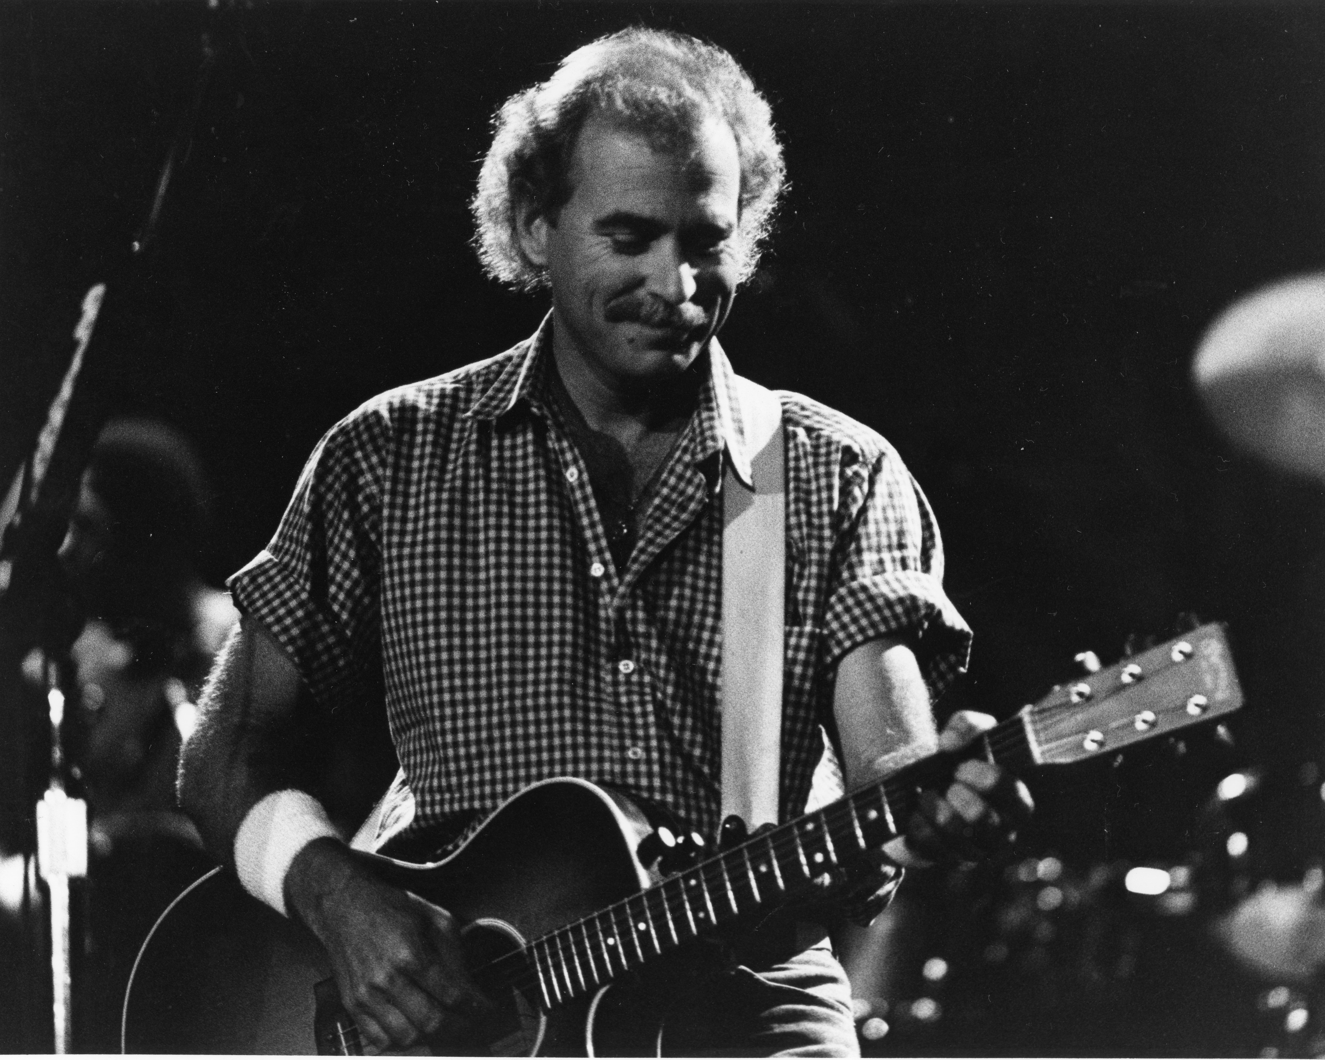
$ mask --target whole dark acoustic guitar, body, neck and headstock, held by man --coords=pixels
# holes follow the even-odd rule
[[[1055,688],[967,749],[1024,772],[1080,762],[1242,706],[1222,625],[1210,624]],[[921,790],[957,759],[934,755],[795,820],[660,877],[653,833],[624,795],[551,779],[504,803],[441,861],[356,852],[382,878],[450,910],[470,971],[498,1004],[486,1055],[659,1052],[666,984],[713,939],[790,942],[815,880],[897,837]],[[653,845],[656,845],[653,840]],[[795,951],[787,949],[782,957]],[[125,998],[126,1052],[355,1053],[321,946],[220,869],[186,890],[143,943]],[[670,977],[670,979],[669,979]]]

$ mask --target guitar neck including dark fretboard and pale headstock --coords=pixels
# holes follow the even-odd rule
[[[1224,629],[1192,629],[1088,678],[1057,686],[984,733],[965,757],[1012,772],[1068,765],[1242,706]],[[825,872],[901,835],[921,791],[942,788],[958,757],[913,762],[822,810],[768,828],[684,873],[476,969],[551,1010],[680,946],[808,890]]]

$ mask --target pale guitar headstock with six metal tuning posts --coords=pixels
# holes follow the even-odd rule
[[[1210,623],[1056,688],[1022,712],[1037,763],[1113,754],[1231,714],[1242,685],[1220,623]]]

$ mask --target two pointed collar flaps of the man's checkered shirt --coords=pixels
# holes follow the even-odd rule
[[[476,420],[498,420],[519,401],[538,404],[542,398],[545,352],[550,355],[549,338],[553,333],[553,314],[549,313],[523,348],[517,347],[493,384],[469,407],[466,416]],[[696,409],[698,428],[694,461],[698,464],[726,450],[731,469],[742,485],[754,489],[750,478],[750,452],[746,445],[745,416],[737,390],[735,372],[717,338],[709,339],[709,371],[700,387]]]

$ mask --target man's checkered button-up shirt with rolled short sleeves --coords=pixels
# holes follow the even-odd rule
[[[698,408],[617,571],[578,450],[545,401],[547,326],[383,394],[313,452],[276,537],[231,579],[327,709],[386,697],[408,831],[457,827],[574,775],[718,824],[722,461],[747,474],[714,342]],[[782,814],[831,727],[836,662],[908,636],[931,688],[970,631],[938,529],[877,433],[780,392],[787,439]]]

